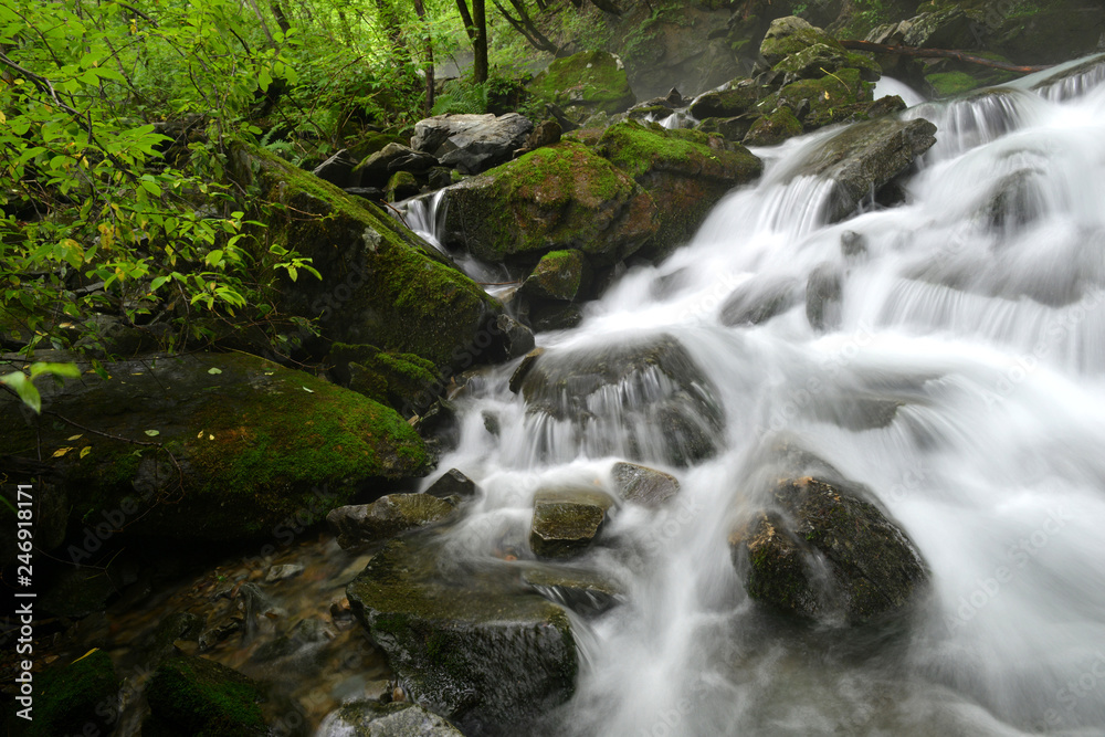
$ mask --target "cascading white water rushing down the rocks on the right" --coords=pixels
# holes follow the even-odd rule
[[[693,243],[538,336],[581,351],[676,336],[725,414],[709,460],[645,451],[680,496],[622,507],[589,554],[625,597],[575,621],[583,667],[550,734],[1105,733],[1105,84],[1086,80],[1102,76],[911,109],[939,143],[906,203],[843,223],[820,220],[829,183],[789,176],[832,131],[757,150],[762,180]],[[865,249],[844,255],[845,232]],[[734,287],[825,262],[843,273],[839,327],[813,330],[800,304],[720,324]],[[588,445],[539,427],[513,368],[473,383],[442,461],[485,491],[459,557],[524,539],[536,488],[604,477],[619,459],[593,449],[661,432],[607,424]],[[887,422],[842,420],[869,399],[896,407]],[[927,560],[932,596],[898,631],[788,624],[744,594],[726,537],[781,439],[869,486]]]

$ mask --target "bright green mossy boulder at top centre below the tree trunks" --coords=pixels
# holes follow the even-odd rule
[[[621,60],[606,51],[557,59],[528,90],[556,105],[576,105],[588,113],[621,113],[636,101]]]

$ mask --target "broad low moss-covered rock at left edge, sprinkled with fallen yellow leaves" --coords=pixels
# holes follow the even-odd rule
[[[64,387],[42,382],[44,402],[139,444],[46,418],[35,427],[19,400],[0,396],[12,453],[34,455],[36,442],[48,457],[70,449],[51,463],[93,549],[123,527],[161,539],[265,537],[288,519],[320,522],[379,480],[421,475],[428,465],[421,439],[390,408],[254,356],[199,352],[105,368],[107,380],[90,371]],[[101,528],[97,538],[92,530]],[[87,535],[77,546],[90,547]]]

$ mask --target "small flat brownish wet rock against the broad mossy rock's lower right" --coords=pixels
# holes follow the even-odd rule
[[[338,545],[380,543],[448,517],[455,507],[431,494],[388,494],[371,504],[338,507],[326,515]]]

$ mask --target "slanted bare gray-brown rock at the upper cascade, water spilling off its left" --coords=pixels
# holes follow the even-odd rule
[[[842,220],[871,192],[877,192],[905,172],[918,156],[936,144],[936,126],[923,118],[882,118],[844,128],[827,140],[796,171],[836,182],[825,213]]]

